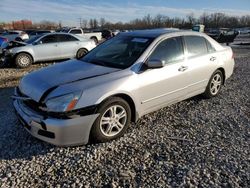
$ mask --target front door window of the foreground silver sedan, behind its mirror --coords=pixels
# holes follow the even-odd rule
[[[150,56],[151,60],[162,60],[172,63],[184,59],[181,37],[167,39],[161,42]]]

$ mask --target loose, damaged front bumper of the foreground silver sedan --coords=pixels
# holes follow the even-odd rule
[[[31,135],[58,146],[87,144],[91,127],[99,115],[57,119],[39,114],[22,100],[14,99],[13,104],[19,120]]]

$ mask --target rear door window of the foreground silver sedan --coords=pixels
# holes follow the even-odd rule
[[[188,50],[188,56],[204,55],[208,53],[207,41],[200,36],[185,36],[185,43]]]

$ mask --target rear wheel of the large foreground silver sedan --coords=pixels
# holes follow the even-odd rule
[[[212,98],[219,94],[223,85],[223,74],[220,70],[216,70],[211,76],[203,95],[206,98]]]

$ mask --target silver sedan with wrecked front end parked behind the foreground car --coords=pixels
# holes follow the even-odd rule
[[[6,50],[7,59],[13,59],[19,68],[25,68],[37,61],[81,58],[96,44],[86,38],[67,33],[39,35],[19,47]]]

